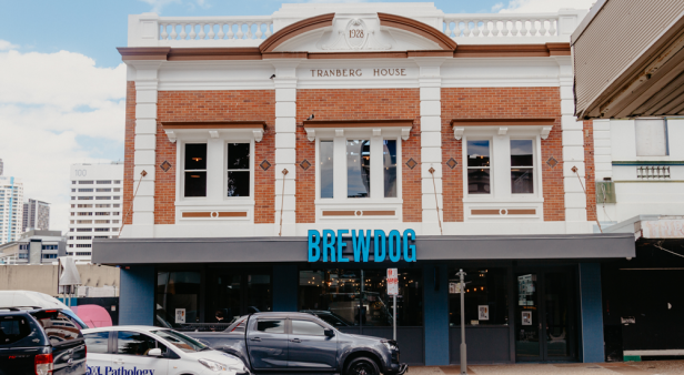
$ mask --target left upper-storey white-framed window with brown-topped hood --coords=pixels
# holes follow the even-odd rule
[[[264,122],[165,122],[177,143],[175,221],[253,221],[254,150]],[[161,163],[170,173],[172,160]]]

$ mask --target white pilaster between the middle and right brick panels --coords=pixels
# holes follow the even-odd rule
[[[442,200],[442,79],[444,59],[416,59],[421,90],[421,178],[423,234],[441,234]],[[434,169],[434,175],[430,173]],[[439,206],[439,210],[437,210]],[[439,214],[437,214],[439,213]]]

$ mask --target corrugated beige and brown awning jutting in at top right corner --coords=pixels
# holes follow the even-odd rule
[[[684,114],[684,1],[600,0],[572,48],[579,120]]]

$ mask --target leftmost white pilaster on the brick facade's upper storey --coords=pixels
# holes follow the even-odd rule
[[[135,142],[132,235],[154,236],[154,175],[157,150],[157,73],[161,62],[135,62]],[[147,175],[142,176],[141,172]],[[140,184],[140,188],[139,188]]]

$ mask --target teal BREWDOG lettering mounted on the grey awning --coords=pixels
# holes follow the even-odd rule
[[[351,235],[353,260],[356,263],[369,262],[373,255],[373,262],[415,262],[415,231],[405,230],[404,233],[390,231],[385,234],[382,230],[356,231],[352,230],[323,230],[321,234],[316,230],[309,230],[309,262],[340,262],[345,263],[350,257],[344,256],[344,247],[348,246],[344,237]],[[371,242],[373,243],[371,245]],[[372,249],[371,249],[372,247]]]

